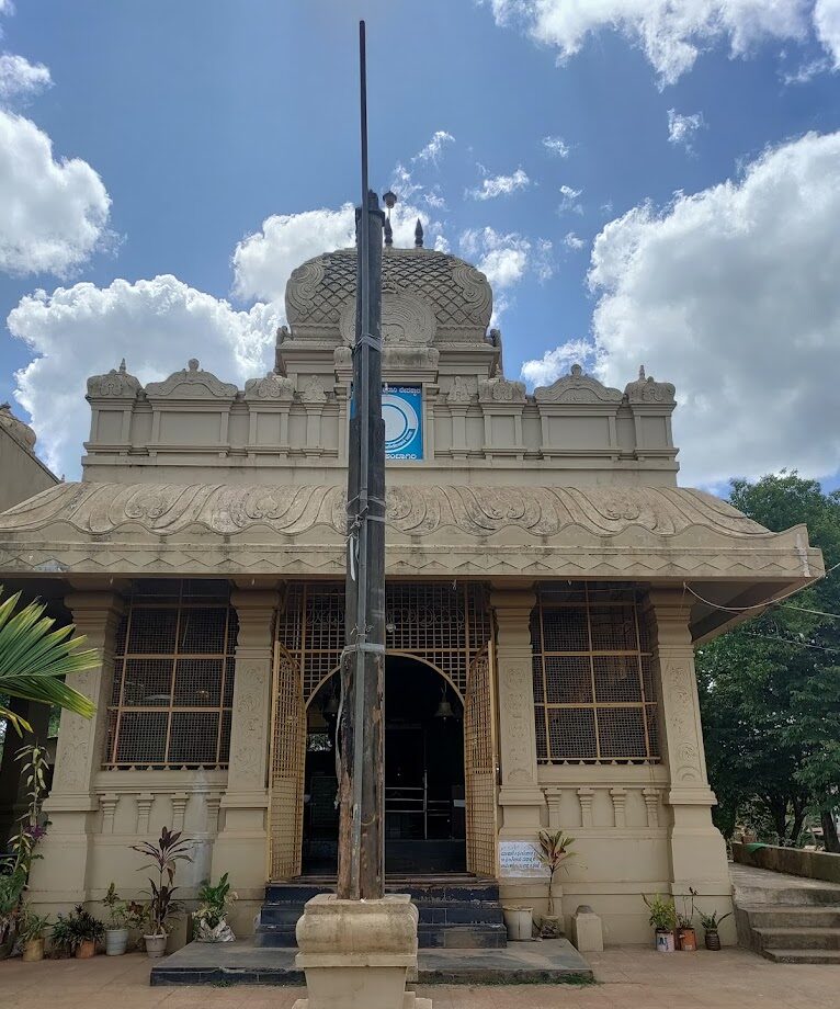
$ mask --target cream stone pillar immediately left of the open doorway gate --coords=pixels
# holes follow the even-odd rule
[[[262,903],[265,889],[266,773],[277,593],[236,590],[230,602],[239,617],[239,636],[227,791],[220,803],[224,827],[213,846],[212,875],[216,880],[224,872],[230,873],[240,897],[238,928],[235,925],[235,930],[240,931],[254,906]]]

